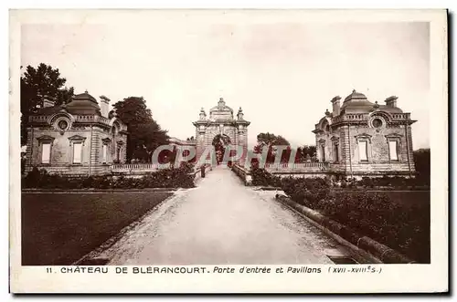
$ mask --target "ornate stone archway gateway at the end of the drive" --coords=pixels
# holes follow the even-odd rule
[[[248,126],[250,121],[244,120],[241,107],[235,119],[233,109],[229,108],[224,99],[220,98],[218,106],[209,109],[209,117],[202,108],[198,120],[194,121],[193,124],[196,126],[197,159],[207,148],[215,146],[213,142],[216,141],[219,145],[220,139],[222,139],[226,146],[242,147],[243,154],[239,162],[244,163],[248,152]]]

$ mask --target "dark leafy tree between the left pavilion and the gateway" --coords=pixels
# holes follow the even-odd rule
[[[168,144],[166,130],[153,119],[143,97],[129,97],[113,105],[117,117],[127,125],[127,161],[151,161],[154,150]]]

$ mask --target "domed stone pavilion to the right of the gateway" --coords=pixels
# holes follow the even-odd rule
[[[326,110],[313,130],[319,161],[348,177],[413,176],[411,124],[416,120],[397,99],[380,105],[356,90],[342,103],[340,97],[332,99],[332,112]]]

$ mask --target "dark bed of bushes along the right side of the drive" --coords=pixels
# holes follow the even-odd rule
[[[327,179],[282,179],[282,190],[301,203],[420,263],[430,262],[430,204],[403,204],[388,193],[335,192]]]

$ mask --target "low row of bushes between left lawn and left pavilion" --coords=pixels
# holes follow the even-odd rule
[[[124,176],[69,177],[49,174],[46,170],[34,168],[23,179],[23,188],[39,189],[144,189],[144,188],[192,188],[194,176],[189,167],[164,169],[145,174],[141,178]]]

